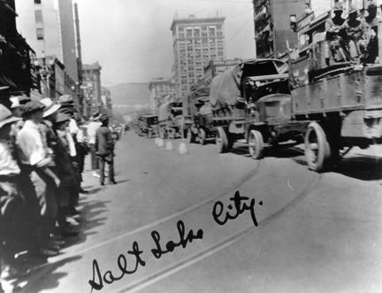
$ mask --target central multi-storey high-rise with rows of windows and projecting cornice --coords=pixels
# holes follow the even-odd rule
[[[172,73],[177,95],[186,96],[191,85],[202,79],[210,60],[225,59],[224,17],[175,18],[170,27],[173,40]]]

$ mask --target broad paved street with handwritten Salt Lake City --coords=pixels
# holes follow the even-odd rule
[[[126,133],[117,148],[118,184],[101,187],[85,174],[80,235],[36,269],[22,292],[90,292],[94,259],[100,274],[111,271],[100,290],[107,293],[382,291],[381,158],[355,150],[336,172],[318,174],[297,149],[256,161],[242,146],[218,154],[212,143],[192,144],[179,155],[180,140],[173,143],[168,151]],[[248,197],[236,213],[235,191]],[[218,225],[226,211],[237,218]],[[184,247],[172,245],[180,243],[180,220],[184,238],[195,235]],[[162,251],[172,241],[172,252],[155,258],[154,230]],[[121,274],[120,254],[119,266],[137,266],[134,274]],[[111,282],[111,274],[120,280]],[[97,274],[93,280],[101,287]]]

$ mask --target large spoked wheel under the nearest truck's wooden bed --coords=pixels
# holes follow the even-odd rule
[[[310,122],[305,133],[305,158],[312,171],[322,172],[331,158],[331,148],[325,131],[317,122]]]

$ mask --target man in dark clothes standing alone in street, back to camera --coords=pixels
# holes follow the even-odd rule
[[[102,126],[99,127],[95,134],[95,153],[99,159],[100,166],[100,183],[104,185],[104,166],[108,164],[109,182],[116,184],[114,180],[114,140],[109,128],[109,118],[101,115],[100,121]]]

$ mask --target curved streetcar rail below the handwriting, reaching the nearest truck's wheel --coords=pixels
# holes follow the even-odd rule
[[[180,260],[176,264],[172,264],[170,266],[167,266],[157,273],[154,273],[154,274],[151,274],[147,277],[144,277],[140,281],[135,281],[133,284],[130,284],[130,285],[124,287],[123,289],[118,289],[118,290],[115,290],[113,292],[114,293],[137,292],[141,289],[148,287],[149,285],[151,285],[157,281],[163,280],[164,278],[166,278],[172,274],[176,274],[176,273],[180,272],[180,270],[187,268],[188,266],[194,265],[195,263],[203,260],[204,258],[210,257],[211,255],[213,255],[214,253],[216,253],[218,251],[225,249],[226,247],[232,245],[233,243],[236,243],[237,241],[245,238],[254,229],[256,229],[256,228],[263,229],[264,227],[268,226],[273,220],[276,220],[282,214],[284,214],[285,212],[294,208],[294,206],[299,204],[305,197],[308,197],[309,194],[317,187],[317,184],[321,181],[322,176],[323,176],[322,174],[317,174],[316,180],[312,184],[310,184],[308,188],[302,190],[302,192],[300,192],[300,194],[297,197],[294,197],[294,199],[291,202],[289,202],[288,204],[286,204],[285,206],[280,208],[279,211],[273,212],[271,215],[266,217],[264,220],[259,221],[258,227],[250,226],[250,227],[248,227],[248,228],[246,228],[246,229],[244,229],[244,230],[242,230],[242,231],[240,231],[234,235],[231,235],[231,236],[225,238],[224,240],[222,240],[218,243],[214,243],[214,244],[210,245],[210,247],[207,247],[203,251],[199,251],[198,253],[195,253],[194,255],[188,256],[187,258],[183,258],[182,260]]]

